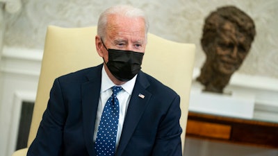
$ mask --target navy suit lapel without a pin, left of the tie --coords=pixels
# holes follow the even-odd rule
[[[101,66],[102,67],[102,66]],[[82,84],[83,132],[89,155],[95,156],[93,135],[101,85],[101,67],[91,71],[88,82]]]

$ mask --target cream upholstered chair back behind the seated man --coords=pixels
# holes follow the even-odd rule
[[[48,27],[28,146],[37,133],[54,79],[65,73],[96,66],[103,62],[95,49],[96,34],[97,27]],[[181,96],[182,146],[185,141],[194,57],[194,44],[181,44],[156,35],[148,35],[142,71],[161,80]]]

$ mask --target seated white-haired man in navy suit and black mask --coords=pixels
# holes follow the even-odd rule
[[[181,156],[179,95],[140,71],[148,27],[131,6],[100,15],[104,63],[56,78],[27,155]]]

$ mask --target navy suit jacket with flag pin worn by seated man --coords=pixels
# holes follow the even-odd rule
[[[54,81],[38,134],[27,155],[96,156],[93,135],[102,66]],[[181,156],[179,102],[179,95],[172,89],[140,71],[115,155]]]

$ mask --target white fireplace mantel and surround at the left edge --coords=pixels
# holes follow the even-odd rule
[[[4,46],[0,62],[0,155],[16,148],[22,101],[35,101],[42,50]]]

